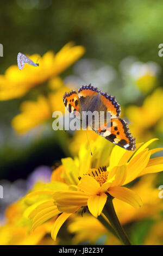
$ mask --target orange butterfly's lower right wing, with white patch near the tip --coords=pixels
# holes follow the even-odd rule
[[[126,121],[121,118],[111,119],[110,125],[104,124],[104,127],[100,127],[98,130],[93,129],[93,131],[121,148],[136,149],[135,138],[131,135]]]

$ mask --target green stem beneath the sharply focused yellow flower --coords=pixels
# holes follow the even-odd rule
[[[113,197],[108,196],[108,199],[103,209],[103,214],[106,216],[106,218],[108,218],[110,224],[112,225],[112,228],[116,231],[116,234],[118,238],[122,241],[122,243],[124,245],[131,245],[126,233],[124,232],[124,229],[121,226],[120,221],[118,220],[114,205],[112,204],[112,199]]]

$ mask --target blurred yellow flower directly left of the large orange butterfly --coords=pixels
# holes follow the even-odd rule
[[[49,93],[47,97],[40,95],[36,101],[24,101],[20,110],[21,113],[12,119],[12,126],[18,133],[24,133],[46,123],[52,118],[53,111],[64,113],[64,104],[62,95],[66,92],[67,87],[63,86],[57,92]]]

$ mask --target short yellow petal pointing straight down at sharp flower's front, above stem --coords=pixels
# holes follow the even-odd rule
[[[89,211],[93,216],[96,218],[101,215],[101,212],[104,208],[104,205],[106,203],[107,196],[105,193],[101,193],[100,196],[93,195],[90,196],[87,201],[87,206],[89,208]]]

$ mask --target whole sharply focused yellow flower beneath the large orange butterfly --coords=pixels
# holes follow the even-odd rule
[[[79,157],[74,160],[70,157],[62,159],[64,166],[62,178],[65,178],[67,182],[67,185],[65,184],[67,188],[64,187],[63,190],[58,187],[57,191],[55,188],[54,190],[35,191],[28,196],[49,195],[46,202],[37,205],[30,212],[30,218],[33,218],[33,228],[60,214],[51,231],[52,238],[55,240],[61,225],[83,206],[87,206],[93,216],[101,215],[108,194],[139,208],[142,205],[140,197],[124,185],[144,174],[161,172],[163,157],[154,159],[150,157],[162,148],[152,150],[147,148],[155,140],[137,144],[137,150],[134,152],[115,146],[111,151],[109,161],[109,149],[106,150],[105,140],[99,137],[96,142],[91,142],[93,157],[83,145],[79,151]],[[97,166],[101,166],[101,162],[104,162],[107,168],[97,169]]]

